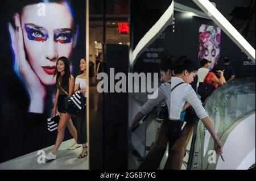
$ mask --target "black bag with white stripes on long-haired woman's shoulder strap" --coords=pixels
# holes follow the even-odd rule
[[[60,80],[59,80],[60,84]],[[61,87],[61,85],[60,85]],[[65,91],[62,87],[61,89],[68,95],[68,92]],[[64,106],[65,111],[73,116],[79,116],[82,112],[82,109],[86,106],[86,99],[84,95],[80,92],[80,90],[76,90],[73,92],[71,96],[67,96],[64,98]]]

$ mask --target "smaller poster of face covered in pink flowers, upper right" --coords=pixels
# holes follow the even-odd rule
[[[219,27],[201,24],[199,28],[198,58],[208,60],[208,69],[218,64],[220,58],[221,29]]]

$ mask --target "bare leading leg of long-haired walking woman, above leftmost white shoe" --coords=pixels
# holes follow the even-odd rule
[[[66,114],[60,113],[60,121],[59,121],[58,129],[57,129],[57,138],[55,141],[55,146],[52,150],[53,154],[57,153],[57,150],[59,149],[60,144],[64,139],[64,132],[65,132],[65,128],[66,128],[66,124],[65,124],[66,119],[67,119]]]

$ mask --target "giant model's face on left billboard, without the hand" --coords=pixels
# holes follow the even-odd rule
[[[28,5],[21,15],[24,46],[28,61],[44,85],[53,85],[57,59],[71,57],[73,49],[73,19],[68,7],[61,3],[45,3],[45,16],[39,7]]]

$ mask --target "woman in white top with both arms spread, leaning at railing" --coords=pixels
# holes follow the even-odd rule
[[[172,68],[175,77],[171,78],[171,87],[168,87],[168,83],[163,83],[158,88],[158,90],[154,93],[155,95],[153,95],[156,96],[156,99],[148,99],[148,101],[134,117],[131,128],[133,128],[134,125],[144,117],[144,115],[150,113],[155,104],[162,99],[167,100],[166,102],[170,102],[170,105],[168,105],[170,121],[179,120],[180,112],[183,110],[185,102],[188,102],[194,108],[196,115],[203,121],[205,127],[212,135],[214,140],[214,149],[218,155],[221,155],[221,142],[214,131],[212,123],[210,123],[207,112],[204,110],[200,100],[197,98],[196,92],[192,89],[191,85],[189,85],[189,83],[193,82],[193,78],[197,74],[195,63],[191,60],[187,60],[186,58],[179,58],[173,62]],[[171,89],[181,82],[183,83],[177,86],[176,89],[171,92]]]

